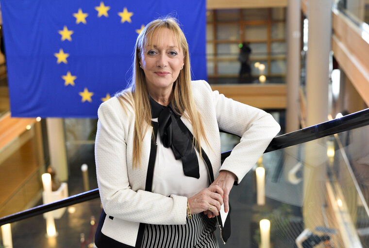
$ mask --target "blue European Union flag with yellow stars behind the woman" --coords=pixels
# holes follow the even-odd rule
[[[205,0],[0,0],[12,116],[96,118],[126,88],[138,33],[171,14],[206,79]]]

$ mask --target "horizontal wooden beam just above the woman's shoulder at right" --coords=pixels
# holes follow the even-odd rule
[[[259,109],[285,109],[285,84],[213,84],[212,89],[228,98]]]

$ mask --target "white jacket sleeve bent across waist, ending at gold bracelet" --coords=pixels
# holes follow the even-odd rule
[[[102,103],[98,110],[95,161],[104,211],[108,216],[133,222],[185,224],[186,197],[166,197],[145,190],[131,189],[127,168],[126,132],[122,117],[127,115],[116,100]],[[139,180],[146,180],[146,173],[142,173]]]

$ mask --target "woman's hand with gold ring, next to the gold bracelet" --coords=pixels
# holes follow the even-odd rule
[[[223,204],[223,189],[218,185],[212,185],[202,189],[196,195],[188,198],[191,215],[198,214],[204,211],[213,213],[217,216],[220,211],[220,206]],[[210,211],[209,207],[213,206]]]

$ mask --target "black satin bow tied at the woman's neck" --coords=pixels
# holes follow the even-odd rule
[[[182,159],[185,176],[200,178],[199,161],[192,139],[181,116],[174,113],[171,104],[167,107],[150,97],[152,117],[158,117],[158,131],[164,147],[170,147],[176,159]],[[157,116],[157,114],[159,114]]]

